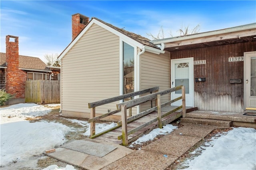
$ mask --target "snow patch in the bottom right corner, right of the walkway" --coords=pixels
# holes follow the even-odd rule
[[[238,127],[224,136],[213,137],[200,156],[183,165],[192,170],[255,170],[256,129]]]

